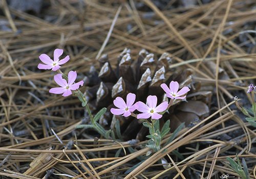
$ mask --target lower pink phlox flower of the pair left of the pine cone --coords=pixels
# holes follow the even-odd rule
[[[77,74],[74,71],[70,71],[68,74],[68,82],[62,78],[62,74],[54,75],[54,81],[61,87],[53,87],[50,89],[50,93],[62,94],[62,96],[69,96],[72,94],[72,90],[76,90],[79,86],[83,85],[83,81],[74,83],[76,80]]]

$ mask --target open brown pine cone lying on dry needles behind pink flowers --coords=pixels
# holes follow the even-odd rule
[[[170,81],[178,81],[180,88],[188,86],[190,92],[187,101],[175,100],[170,107],[169,113],[165,113],[160,119],[160,125],[170,119],[170,128],[174,131],[182,122],[185,125],[193,125],[199,122],[209,113],[211,92],[200,91],[201,84],[193,81],[193,70],[191,69],[169,69],[172,59],[168,53],[164,53],[156,60],[152,53],[141,50],[137,60],[130,55],[129,49],[124,49],[118,56],[117,67],[112,68],[108,55],[102,55],[98,60],[101,66],[99,73],[92,66],[87,75],[87,86],[85,92],[90,108],[95,113],[102,107],[107,107],[108,112],[100,119],[105,127],[114,129],[116,120],[119,120],[124,140],[143,140],[147,135],[147,128],[133,117],[124,118],[113,116],[110,108],[114,107],[113,100],[116,97],[125,98],[128,93],[136,94],[136,101],[146,101],[148,95],[156,95],[159,103],[168,101],[161,83],[169,85]],[[161,101],[162,99],[162,101]]]

